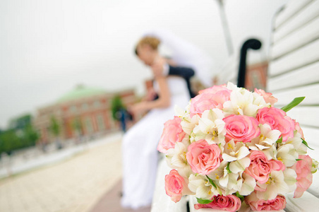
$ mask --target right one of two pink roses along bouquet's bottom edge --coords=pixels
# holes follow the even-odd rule
[[[252,192],[245,197],[245,202],[253,211],[280,211],[286,207],[286,198],[277,195],[275,199],[258,199],[256,192]]]

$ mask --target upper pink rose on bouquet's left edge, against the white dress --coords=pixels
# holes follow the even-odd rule
[[[181,142],[186,133],[181,128],[181,118],[174,117],[164,124],[164,130],[159,139],[157,150],[161,153],[167,153],[169,148],[174,148],[176,142]]]

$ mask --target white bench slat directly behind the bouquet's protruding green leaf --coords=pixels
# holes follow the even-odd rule
[[[293,86],[293,84],[291,84],[291,86]],[[294,98],[301,96],[304,96],[306,98],[301,102],[300,105],[318,105],[318,89],[319,83],[309,86],[303,86],[301,88],[290,88],[289,90],[274,92],[273,95],[275,96],[275,98],[278,99],[275,107],[287,105],[289,102],[294,100]],[[267,91],[271,92],[271,90]]]

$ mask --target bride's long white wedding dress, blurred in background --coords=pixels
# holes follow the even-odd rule
[[[123,207],[136,209],[150,206],[152,203],[159,155],[157,144],[162,135],[164,122],[174,118],[175,105],[185,108],[190,100],[183,78],[169,76],[167,84],[171,94],[171,105],[164,109],[151,110],[124,135],[121,199]]]

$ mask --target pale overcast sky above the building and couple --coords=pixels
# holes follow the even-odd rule
[[[272,16],[287,1],[225,1],[234,49],[257,37],[263,49],[249,57],[266,59]],[[150,71],[133,47],[145,30],[157,28],[198,45],[215,69],[227,61],[216,0],[1,0],[0,128],[78,83],[143,92]]]

